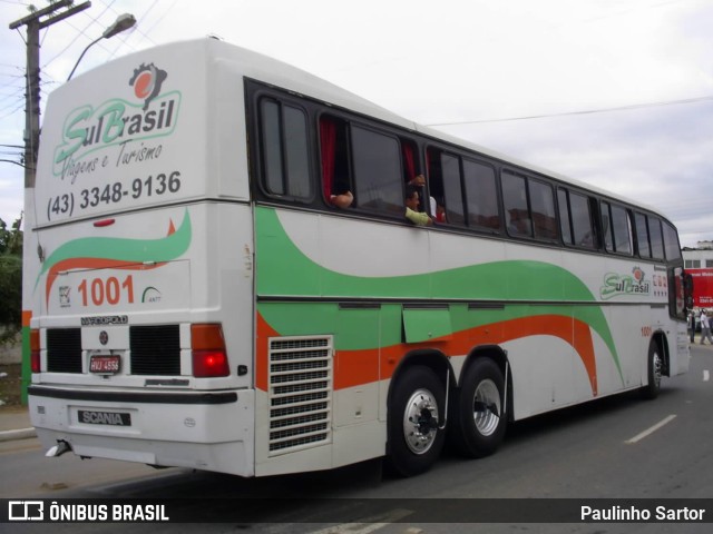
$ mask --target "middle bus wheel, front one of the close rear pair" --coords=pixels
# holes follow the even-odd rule
[[[505,437],[505,379],[498,365],[478,358],[468,367],[453,414],[451,438],[466,456],[480,458],[497,451]]]

